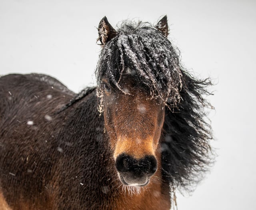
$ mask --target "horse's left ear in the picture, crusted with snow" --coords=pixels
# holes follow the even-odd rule
[[[108,41],[117,35],[116,30],[114,30],[114,28],[109,24],[106,16],[100,20],[98,34],[99,37],[97,41],[100,40],[101,45],[105,45]]]

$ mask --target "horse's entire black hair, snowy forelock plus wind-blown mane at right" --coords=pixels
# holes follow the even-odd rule
[[[96,78],[101,93],[102,77],[122,90],[118,82],[130,68],[151,97],[166,104],[161,138],[161,164],[164,180],[173,187],[197,183],[212,162],[208,140],[212,139],[207,122],[204,95],[210,94],[209,79],[198,80],[181,65],[177,50],[148,23],[123,22],[117,35],[102,48]],[[100,96],[101,94],[99,94]]]

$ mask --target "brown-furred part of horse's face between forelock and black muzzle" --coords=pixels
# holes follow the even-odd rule
[[[112,90],[111,96],[106,92],[104,97],[104,119],[114,157],[122,153],[135,158],[155,156],[164,123],[164,104],[156,98],[148,99],[145,92],[134,88],[129,77],[124,77],[120,86],[125,86],[128,94]]]

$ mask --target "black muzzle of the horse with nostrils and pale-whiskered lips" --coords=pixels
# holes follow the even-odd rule
[[[120,181],[125,185],[147,185],[156,169],[157,161],[153,155],[136,159],[123,153],[116,158],[116,170]]]

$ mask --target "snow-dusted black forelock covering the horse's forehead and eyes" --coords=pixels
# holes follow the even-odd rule
[[[180,100],[182,74],[170,41],[148,23],[123,22],[117,32],[100,54],[96,68],[98,85],[102,76],[106,76],[110,84],[122,90],[118,81],[126,68],[130,68],[152,97],[160,96],[164,101],[172,98],[176,105]]]

